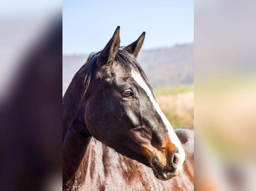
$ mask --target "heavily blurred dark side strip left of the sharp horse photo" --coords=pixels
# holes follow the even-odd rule
[[[0,13],[0,190],[62,188],[62,15],[47,3],[1,4],[16,11]]]

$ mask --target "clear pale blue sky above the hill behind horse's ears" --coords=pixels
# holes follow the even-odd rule
[[[104,48],[117,26],[121,46],[145,31],[142,49],[194,42],[194,1],[63,0],[63,54]]]

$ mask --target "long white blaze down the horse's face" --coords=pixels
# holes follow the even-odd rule
[[[176,147],[178,147],[178,149],[179,149],[180,159],[183,163],[183,161],[185,160],[185,151],[184,151],[183,147],[181,146],[179,138],[177,137],[176,133],[174,132],[170,122],[168,121],[168,119],[163,114],[163,112],[160,109],[158,103],[154,99],[154,97],[152,95],[152,92],[150,91],[149,87],[147,86],[145,81],[142,79],[142,77],[137,72],[134,72],[134,71],[132,71],[131,74],[132,74],[133,79],[137,82],[137,84],[145,90],[145,92],[147,93],[147,95],[148,95],[149,99],[151,100],[153,106],[155,107],[156,111],[158,112],[158,114],[162,118],[162,120],[163,120],[163,122],[164,122],[164,124],[165,124],[165,126],[168,130],[168,134],[169,134],[169,138],[170,138],[171,142]]]

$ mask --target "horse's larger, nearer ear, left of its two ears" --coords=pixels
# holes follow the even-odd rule
[[[98,64],[100,67],[108,62],[111,62],[114,59],[120,45],[119,30],[120,26],[116,28],[114,35],[112,36],[106,47],[101,51],[98,57]]]

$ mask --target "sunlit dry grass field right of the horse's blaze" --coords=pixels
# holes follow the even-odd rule
[[[154,89],[155,98],[173,128],[194,129],[194,85]]]

